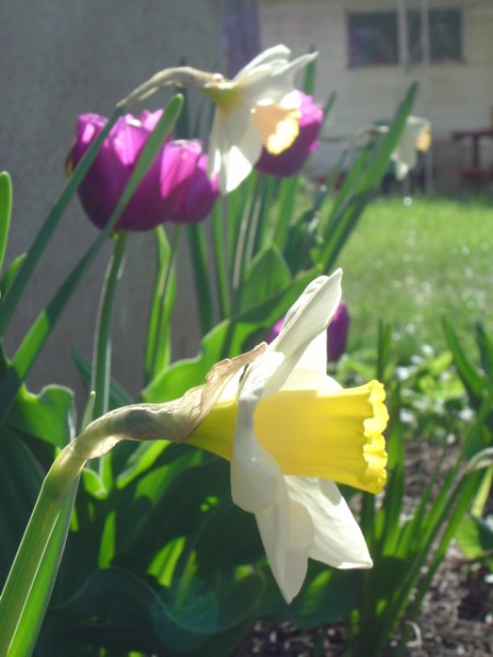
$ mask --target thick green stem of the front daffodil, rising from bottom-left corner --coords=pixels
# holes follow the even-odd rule
[[[33,581],[67,496],[77,485],[85,460],[65,448],[43,482],[31,519],[0,598],[0,657],[10,655]],[[24,657],[24,656],[19,656]]]

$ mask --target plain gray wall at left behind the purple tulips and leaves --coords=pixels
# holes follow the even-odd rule
[[[3,0],[0,3],[0,170],[12,175],[13,228],[8,262],[32,243],[65,183],[64,162],[83,112],[108,115],[116,101],[159,69],[220,66],[220,0]],[[165,102],[160,93],[147,105]],[[144,105],[136,110],[146,108]],[[33,319],[96,237],[74,199],[36,269],[5,339],[12,354]],[[99,292],[111,244],[76,293],[30,376],[79,389],[71,345],[91,355]],[[175,332],[177,356],[196,351],[195,302],[182,267]],[[118,379],[141,384],[145,321],[153,272],[149,234],[131,235],[115,315]]]

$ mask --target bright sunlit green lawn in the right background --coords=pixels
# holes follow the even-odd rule
[[[391,323],[403,356],[423,344],[445,346],[445,313],[467,345],[477,319],[493,334],[493,198],[378,199],[339,264],[349,350],[376,344],[379,319]]]

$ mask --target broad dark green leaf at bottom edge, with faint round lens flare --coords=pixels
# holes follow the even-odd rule
[[[165,589],[108,568],[59,606],[56,621],[66,635],[80,639],[82,632],[85,643],[107,649],[228,657],[253,622],[263,588],[259,574],[219,586],[192,578]]]

